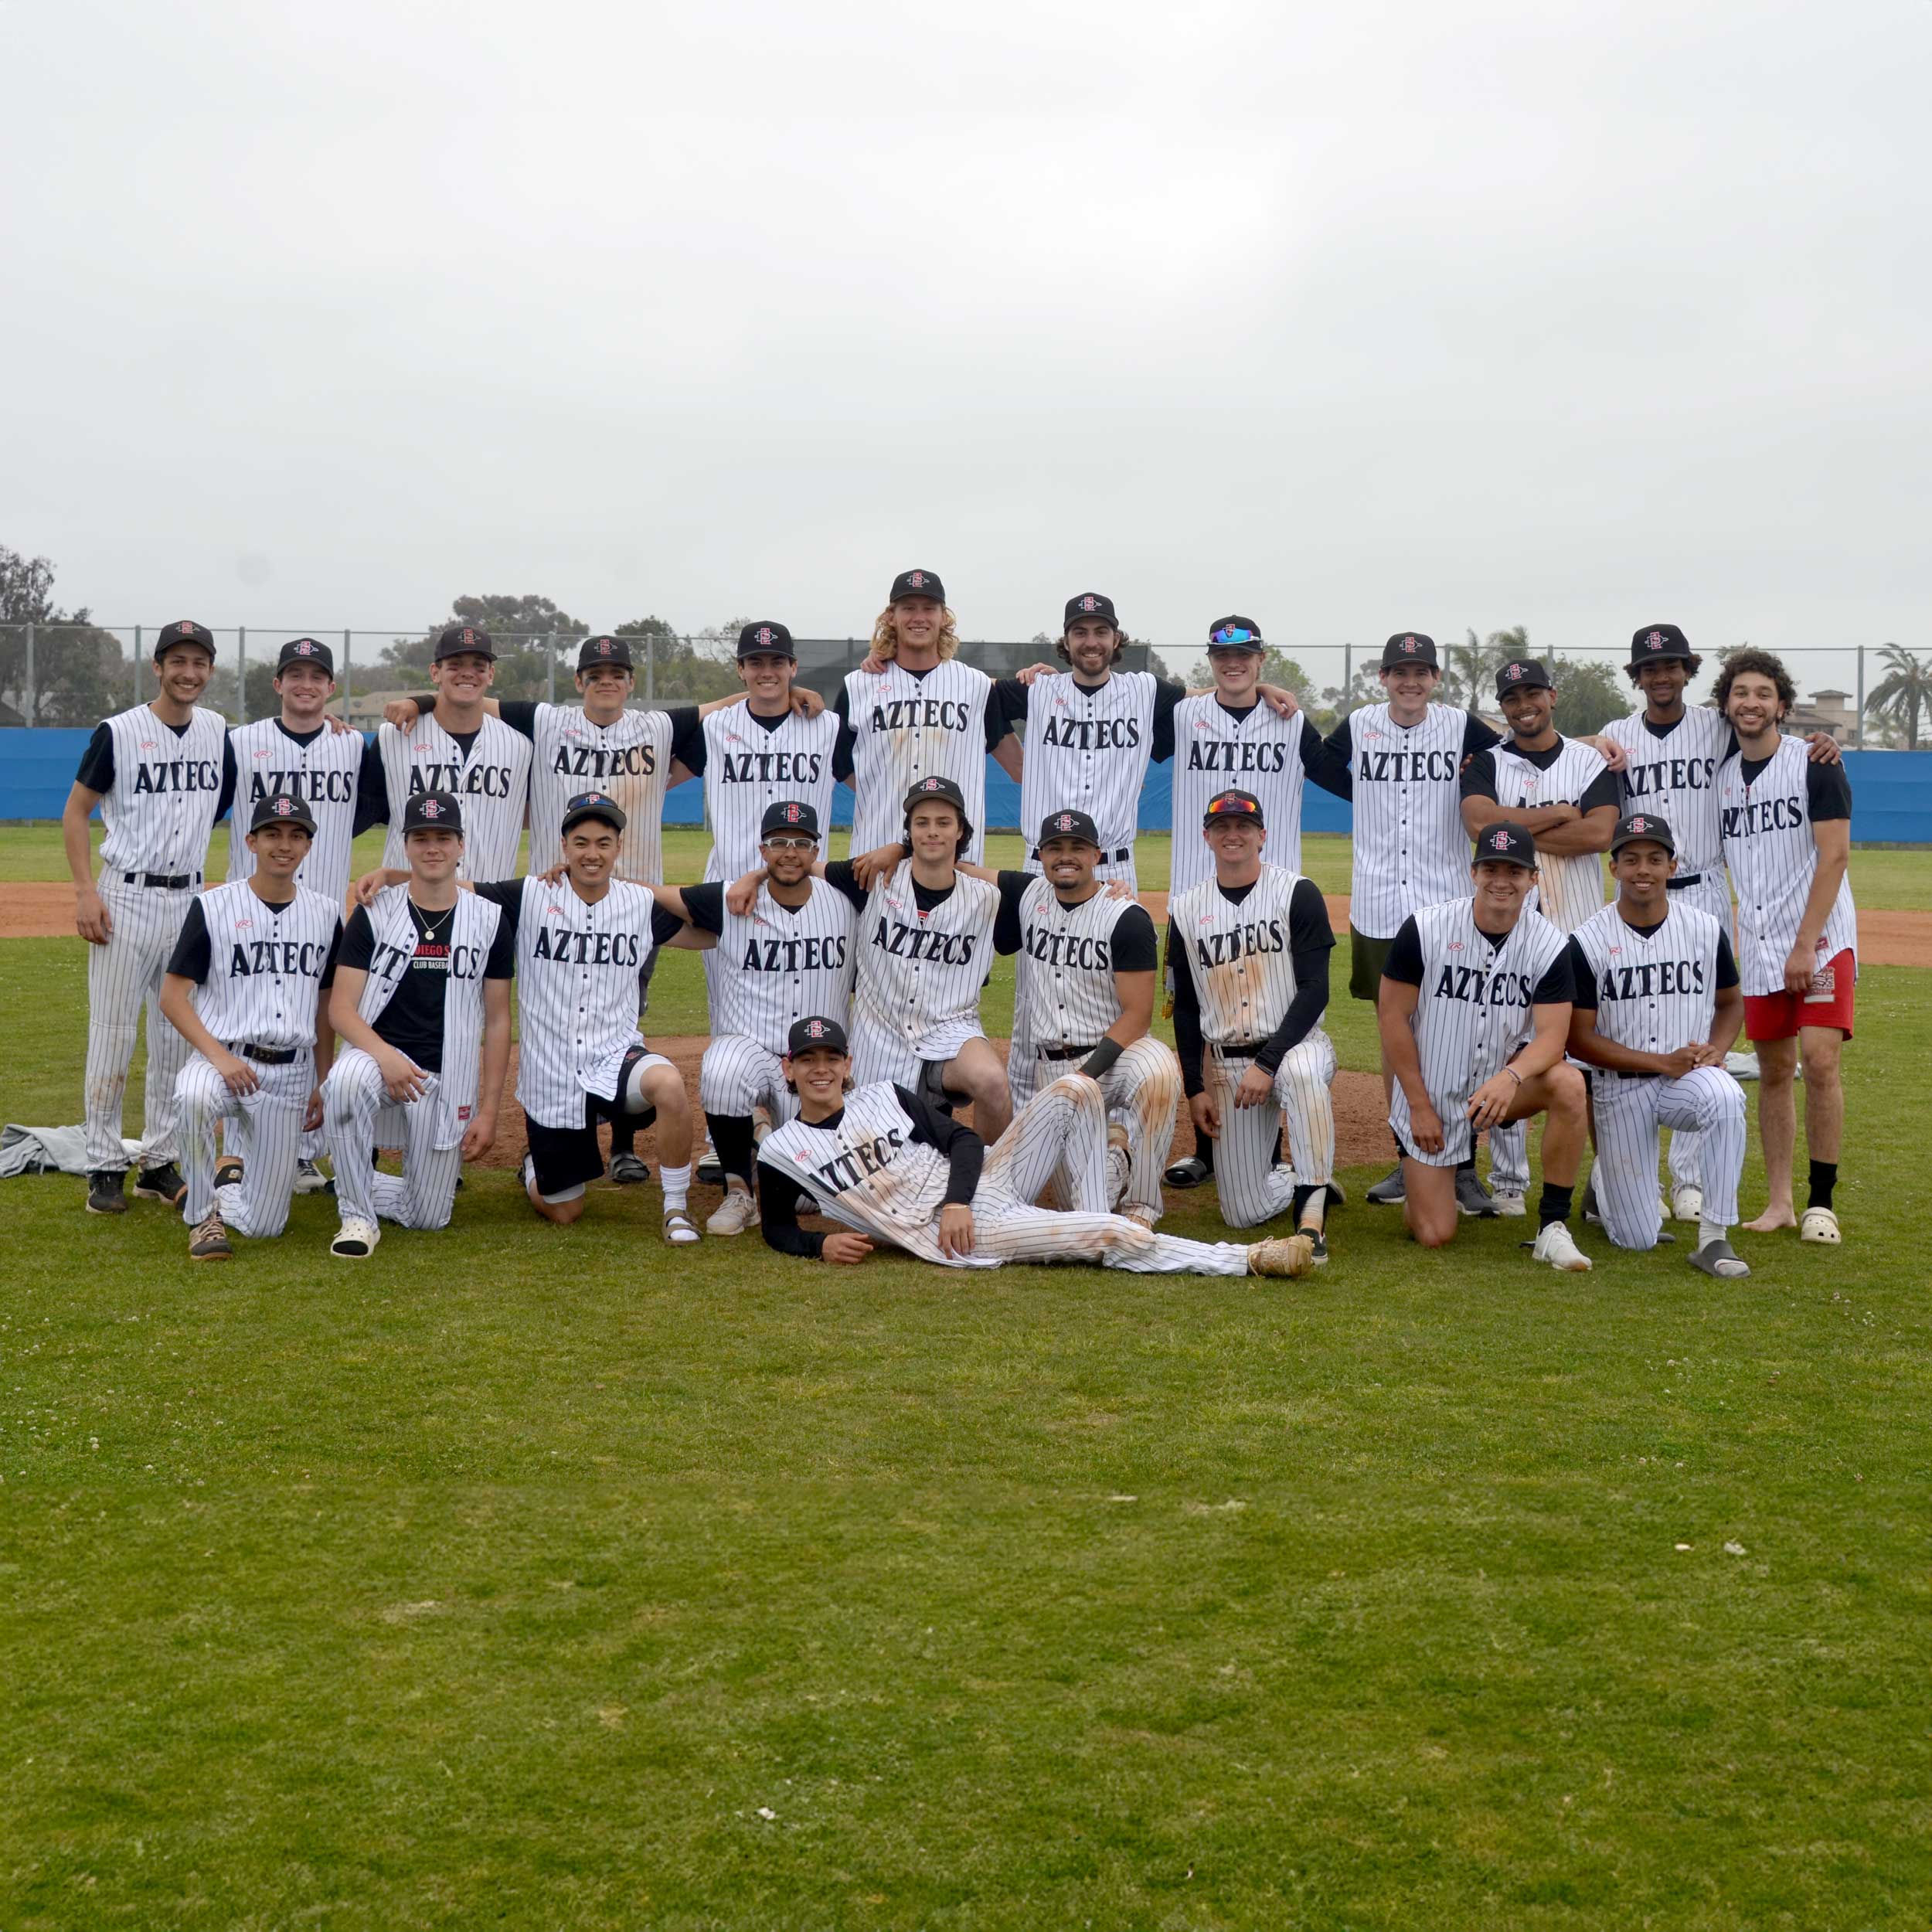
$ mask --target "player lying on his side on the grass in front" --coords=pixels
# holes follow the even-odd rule
[[[941,1267],[1097,1262],[1140,1275],[1302,1275],[1308,1238],[1177,1240],[1107,1213],[1107,1103],[1099,1082],[1061,1074],[1036,1094],[991,1153],[929,1099],[891,1082],[852,1086],[844,1028],[813,1016],[790,1032],[784,1076],[798,1117],[759,1148],[761,1225],[769,1246],[823,1262],[864,1262],[875,1246]],[[1072,1211],[1032,1206],[1061,1175]],[[810,1200],[838,1223],[806,1233]]]

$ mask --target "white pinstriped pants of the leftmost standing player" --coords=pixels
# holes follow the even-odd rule
[[[128,1165],[120,1136],[122,1105],[143,1007],[147,1094],[135,1167],[162,1167],[180,1151],[174,1090],[187,1063],[187,1041],[160,1016],[160,981],[195,895],[128,885],[120,873],[102,875],[99,891],[110,925],[108,943],[87,949],[87,1167],[89,1173],[106,1169],[118,1175]]]

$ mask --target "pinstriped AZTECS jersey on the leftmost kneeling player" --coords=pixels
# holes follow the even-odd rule
[[[340,908],[305,885],[276,908],[236,881],[209,887],[193,910],[209,935],[209,976],[193,993],[201,1024],[224,1045],[313,1045]]]

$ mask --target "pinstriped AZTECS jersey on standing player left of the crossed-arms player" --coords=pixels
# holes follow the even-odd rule
[[[1468,896],[1463,740],[1468,713],[1430,705],[1397,724],[1387,705],[1349,713],[1354,757],[1354,877],[1349,923],[1389,939],[1408,914]],[[1177,840],[1179,844],[1179,840]]]

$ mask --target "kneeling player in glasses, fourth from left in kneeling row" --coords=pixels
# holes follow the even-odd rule
[[[753,1115],[786,1121],[794,1111],[784,1084],[792,1024],[852,1005],[854,910],[842,891],[811,867],[819,854],[819,813],[790,798],[767,806],[757,858],[763,879],[750,910],[724,904],[724,883],[653,887],[651,896],[680,923],[715,933],[724,972],[711,1003],[713,1039],[697,1070],[697,1099],[724,1171],[724,1200],[705,1221],[707,1235],[742,1235],[757,1221],[752,1198]]]

